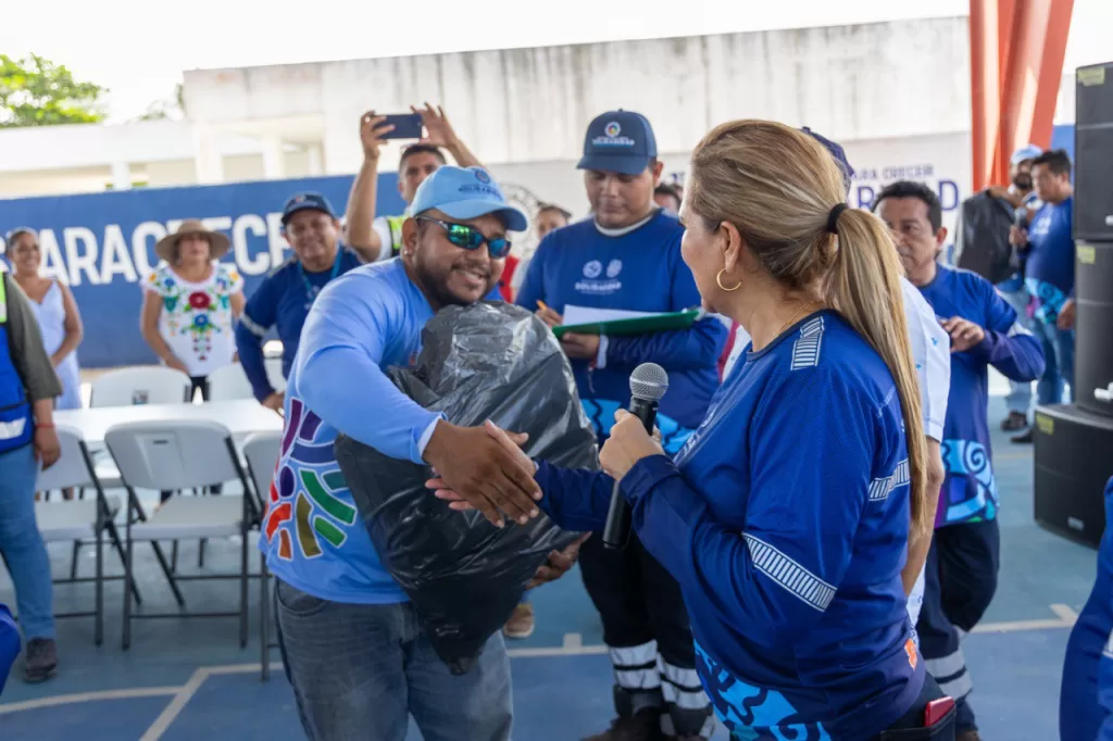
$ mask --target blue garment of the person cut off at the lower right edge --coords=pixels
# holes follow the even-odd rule
[[[1063,741],[1113,741],[1113,478],[1105,485],[1097,579],[1066,644],[1058,729]]]

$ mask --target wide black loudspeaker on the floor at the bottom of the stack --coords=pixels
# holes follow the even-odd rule
[[[1097,547],[1102,493],[1113,476],[1113,417],[1073,405],[1036,408],[1035,517],[1047,530]]]

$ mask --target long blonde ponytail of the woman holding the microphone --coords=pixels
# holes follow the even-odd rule
[[[828,274],[827,300],[873,345],[896,381],[912,478],[909,541],[916,541],[929,534],[934,523],[933,507],[927,502],[927,445],[919,381],[904,319],[904,270],[888,229],[873,214],[847,209],[838,217],[836,230],[838,248],[834,270]]]

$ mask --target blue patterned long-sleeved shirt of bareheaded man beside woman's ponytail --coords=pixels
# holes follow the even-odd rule
[[[989,444],[989,366],[1012,381],[1043,375],[1043,347],[1016,320],[993,284],[969,270],[938,266],[935,279],[920,293],[940,318],[962,317],[985,330],[985,339],[965,353],[951,355],[951,391],[940,441],[943,483],[935,524],[993,520],[999,498]]]

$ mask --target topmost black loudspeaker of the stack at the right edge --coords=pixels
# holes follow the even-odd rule
[[[1113,62],[1075,72],[1074,238],[1113,241]]]

